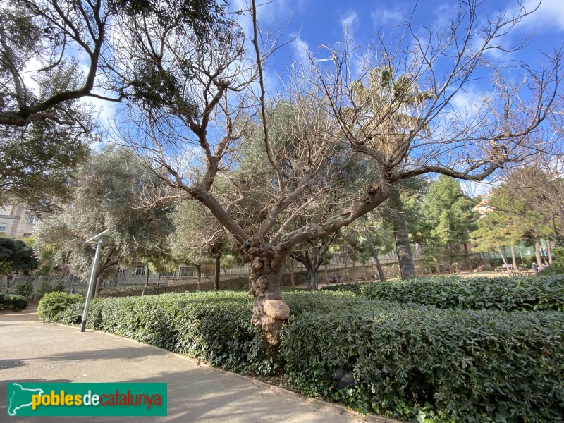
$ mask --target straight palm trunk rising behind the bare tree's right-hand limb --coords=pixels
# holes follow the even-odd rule
[[[405,216],[403,214],[403,204],[400,192],[393,188],[390,195],[391,208],[396,211],[392,218],[393,238],[396,240],[396,255],[400,264],[400,274],[402,279],[415,278],[415,264],[411,253],[410,236],[407,233]]]

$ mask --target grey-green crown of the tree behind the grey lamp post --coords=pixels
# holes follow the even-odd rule
[[[94,251],[85,240],[105,229],[119,236],[102,249],[98,273],[111,266],[136,263],[140,259],[161,264],[159,250],[171,230],[168,204],[145,208],[140,195],[159,190],[159,182],[147,175],[130,149],[106,148],[82,166],[75,186],[73,207],[39,221],[35,247],[49,266],[68,266],[73,274],[87,280]]]

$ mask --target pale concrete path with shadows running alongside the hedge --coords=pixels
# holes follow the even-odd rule
[[[391,422],[360,417],[244,376],[106,333],[0,312],[0,422]],[[6,382],[166,382],[167,417],[7,417]]]

